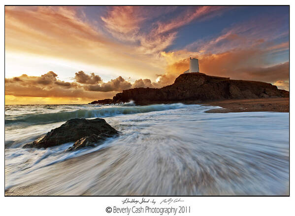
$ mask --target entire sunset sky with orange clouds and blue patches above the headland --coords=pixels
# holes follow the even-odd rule
[[[289,91],[289,6],[5,6],[5,104],[85,104],[200,72]]]

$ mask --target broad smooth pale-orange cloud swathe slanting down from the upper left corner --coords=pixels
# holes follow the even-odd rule
[[[138,71],[153,76],[164,66],[159,58],[145,55],[148,47],[120,43],[98,32],[78,18],[79,9],[5,6],[5,52],[111,67],[114,71],[125,72],[126,76],[138,76]],[[151,58],[154,60],[148,61]]]

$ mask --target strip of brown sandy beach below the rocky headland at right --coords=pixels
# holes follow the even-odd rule
[[[266,99],[244,99],[244,100],[224,100],[208,102],[205,106],[218,106],[222,108],[210,109],[208,113],[228,113],[228,112],[289,112],[289,98],[266,98]]]

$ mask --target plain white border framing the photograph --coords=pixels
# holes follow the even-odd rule
[[[290,6],[290,39],[294,35],[295,27],[292,25],[294,23],[293,11],[293,1],[291,0],[247,0],[247,1],[236,1],[236,0],[206,0],[206,1],[196,1],[196,0],[186,0],[186,1],[176,1],[176,0],[124,0],[118,1],[94,1],[94,0],[5,0],[3,1],[1,8],[1,23],[0,29],[2,30],[1,34],[1,59],[2,59],[2,70],[4,70],[4,4],[287,4]],[[290,63],[293,61],[293,40],[290,41]],[[292,64],[290,64],[290,70],[292,69]],[[4,74],[2,73],[2,83],[1,88],[1,101],[4,102]],[[290,89],[293,89],[293,74],[290,72]],[[291,90],[292,91],[292,90]],[[2,104],[3,105],[3,104]],[[290,98],[290,155],[294,154],[294,148],[292,146],[294,141],[294,128],[292,123],[294,123],[295,107],[293,94]],[[4,106],[1,107],[2,113],[4,113]],[[4,115],[1,115],[1,131],[0,139],[4,140]],[[4,188],[4,143],[2,143],[0,160],[2,161],[1,166],[1,178],[0,185]],[[190,215],[291,215],[294,200],[294,160],[292,156],[290,157],[290,197],[183,197],[186,205],[193,207],[192,214]],[[157,199],[159,197],[156,197]],[[4,191],[2,189],[1,196],[1,212],[2,215],[20,215],[20,216],[53,216],[53,215],[71,215],[71,216],[82,216],[82,215],[113,215],[107,214],[105,208],[107,206],[112,206],[120,204],[123,197],[4,197]],[[294,213],[293,213],[294,214]],[[126,214],[115,214],[115,215],[126,215]],[[139,215],[139,214],[136,214]],[[148,214],[145,214],[148,215]],[[159,214],[152,214],[159,215]]]

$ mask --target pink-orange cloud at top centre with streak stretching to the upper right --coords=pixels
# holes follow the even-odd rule
[[[135,50],[142,54],[158,53],[175,40],[178,29],[198,18],[212,18],[229,7],[200,6],[184,7],[186,10],[173,13],[180,7],[142,7],[142,6],[113,6],[106,16],[101,19],[107,30],[116,38],[139,43]],[[164,22],[155,21],[157,17],[171,16]],[[147,24],[148,23],[148,24]],[[149,31],[147,32],[146,29]]]

